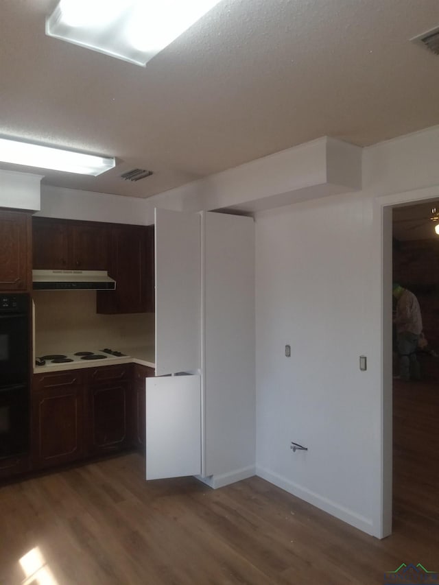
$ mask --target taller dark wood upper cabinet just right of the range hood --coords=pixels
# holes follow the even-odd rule
[[[97,291],[97,313],[154,311],[154,226],[112,226],[108,273],[116,290]]]

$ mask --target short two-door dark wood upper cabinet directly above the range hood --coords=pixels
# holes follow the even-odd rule
[[[108,270],[107,224],[34,217],[33,267],[39,270]]]

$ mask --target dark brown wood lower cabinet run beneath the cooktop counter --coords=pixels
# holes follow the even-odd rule
[[[145,378],[150,376],[152,368],[130,363],[34,374],[32,467],[38,470],[133,447],[143,451]],[[12,473],[0,468],[0,477]]]

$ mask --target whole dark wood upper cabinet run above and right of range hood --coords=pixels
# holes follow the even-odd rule
[[[154,226],[34,217],[34,269],[106,270],[115,291],[97,291],[97,313],[154,312]]]

